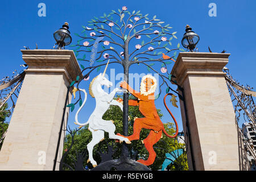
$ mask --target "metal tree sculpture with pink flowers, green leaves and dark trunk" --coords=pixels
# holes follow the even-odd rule
[[[126,6],[122,7],[122,10],[112,10],[108,15],[104,13],[103,16],[88,21],[88,26],[82,26],[82,35],[79,36],[77,44],[71,45],[76,47],[74,52],[76,57],[82,55],[82,58],[78,58],[79,61],[85,61],[89,63],[89,67],[82,64],[82,75],[77,76],[76,81],[73,81],[70,86],[76,84],[79,88],[79,84],[82,80],[89,77],[89,74],[97,68],[100,70],[101,66],[106,65],[106,60],[110,60],[109,64],[117,63],[123,66],[124,81],[129,82],[129,68],[133,64],[146,65],[148,71],[158,73],[162,78],[162,84],[159,86],[159,94],[155,96],[157,99],[162,92],[162,86],[167,86],[166,93],[173,90],[168,84],[171,82],[170,73],[168,72],[167,65],[175,62],[177,50],[180,49],[180,43],[177,44],[177,48],[168,48],[172,46],[171,40],[177,39],[176,32],[169,33],[169,24],[163,25],[164,22],[160,19],[156,19],[156,15],[152,19],[148,18],[148,14],[142,15],[141,11],[130,12]],[[114,20],[114,17],[117,18]],[[115,30],[115,31],[114,31]],[[87,36],[86,32],[89,32]],[[94,42],[94,44],[90,44]],[[100,46],[100,44],[103,45]],[[97,51],[98,47],[101,47],[100,51]],[[131,51],[130,51],[131,50]],[[173,53],[172,56],[167,54]],[[91,53],[90,58],[86,59],[86,53]],[[93,65],[96,61],[97,65]],[[159,63],[160,69],[156,69],[153,66],[155,63]],[[158,71],[159,70],[159,71]],[[178,94],[179,96],[179,94]],[[123,94],[123,135],[128,134],[128,93]],[[179,96],[181,97],[181,96]],[[176,100],[173,95],[173,104]],[[69,104],[71,111],[75,108],[76,104],[82,104],[81,93],[79,93],[79,99]],[[128,159],[129,151],[126,144],[123,144],[121,158]]]

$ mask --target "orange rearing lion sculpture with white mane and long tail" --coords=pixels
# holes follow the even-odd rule
[[[171,93],[166,94],[164,97],[164,105],[166,106],[166,109],[171,114],[171,117],[175,121],[176,125],[176,133],[174,136],[168,135],[166,130],[164,130],[164,125],[162,121],[159,118],[159,115],[156,111],[155,107],[155,90],[157,86],[157,82],[155,77],[151,75],[146,75],[142,77],[141,81],[141,92],[137,92],[133,90],[130,85],[127,84],[126,81],[121,82],[120,84],[121,88],[128,90],[133,96],[137,97],[137,100],[129,100],[129,106],[139,106],[139,111],[144,115],[144,118],[135,118],[134,125],[133,125],[133,134],[130,135],[128,138],[131,140],[138,140],[139,134],[141,133],[142,129],[150,129],[150,134],[147,136],[146,139],[142,141],[144,143],[144,146],[146,147],[148,151],[148,159],[142,160],[139,159],[137,162],[142,163],[146,166],[151,165],[155,161],[156,153],[153,149],[153,146],[156,142],[162,138],[162,131],[164,134],[167,135],[167,137],[175,138],[178,134],[178,126],[176,119],[172,115],[171,111],[168,109],[166,105],[166,96],[172,95]],[[119,98],[120,100],[120,98]],[[121,134],[118,134],[121,135]],[[121,135],[122,137],[125,137]]]

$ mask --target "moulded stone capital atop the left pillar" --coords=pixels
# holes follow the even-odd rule
[[[63,73],[69,82],[81,76],[73,51],[65,49],[21,50],[27,63],[26,73]]]

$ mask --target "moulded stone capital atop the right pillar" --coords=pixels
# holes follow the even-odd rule
[[[188,75],[225,75],[223,67],[228,64],[229,53],[181,52],[171,74],[182,85]],[[174,80],[175,80],[174,79]]]

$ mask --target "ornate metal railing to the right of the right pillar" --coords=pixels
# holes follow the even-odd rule
[[[236,124],[238,129],[238,141],[239,141],[239,152],[240,152],[240,166],[241,170],[249,170],[256,168],[256,138],[248,138],[245,134],[245,128],[250,127],[254,137],[256,137],[256,108],[253,97],[256,97],[254,92],[249,85],[243,86],[232,77],[228,68],[224,67],[226,73],[225,79],[228,85],[230,97],[234,106],[234,112],[236,114]],[[238,126],[238,123],[243,121],[245,125],[242,129]]]

